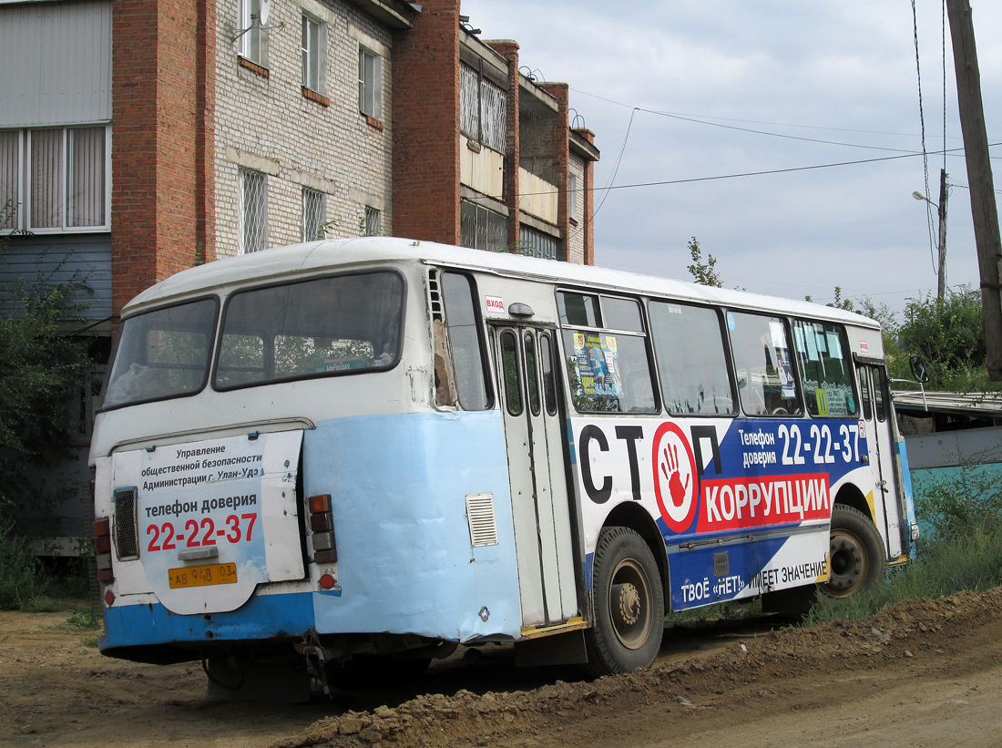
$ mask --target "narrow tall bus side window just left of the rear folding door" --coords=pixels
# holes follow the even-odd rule
[[[459,404],[464,410],[491,407],[487,389],[484,348],[480,341],[480,321],[474,304],[473,282],[461,273],[442,274],[449,353],[455,375]]]

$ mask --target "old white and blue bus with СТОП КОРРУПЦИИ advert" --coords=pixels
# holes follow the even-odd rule
[[[232,688],[628,672],[668,611],[852,596],[917,536],[874,321],[401,239],[140,294],[91,462],[102,652]]]

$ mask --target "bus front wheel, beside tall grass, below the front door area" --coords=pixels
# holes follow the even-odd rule
[[[829,598],[851,598],[877,588],[886,568],[884,540],[859,509],[836,504],[832,510],[829,580],[818,589]]]

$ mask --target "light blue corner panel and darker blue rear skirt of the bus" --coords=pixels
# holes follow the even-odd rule
[[[174,614],[158,602],[130,605],[120,596],[105,609],[101,650],[131,657],[128,648],[301,640],[311,630],[459,642],[519,638],[499,412],[323,421],[304,432],[303,479],[306,496],[331,495],[336,565],[311,567],[309,586],[291,582],[295,590],[283,592],[287,583],[275,583],[235,610],[209,615]],[[480,506],[487,497],[496,542],[474,546],[468,496],[479,496]],[[320,587],[322,574],[336,578],[336,591]]]

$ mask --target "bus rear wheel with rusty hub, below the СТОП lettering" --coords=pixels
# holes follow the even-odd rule
[[[653,553],[632,529],[606,527],[598,535],[592,596],[585,671],[598,677],[649,667],[664,633],[664,593]]]

